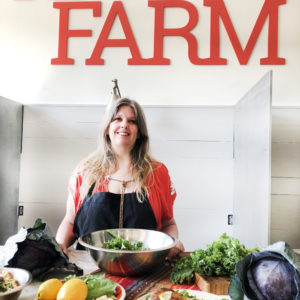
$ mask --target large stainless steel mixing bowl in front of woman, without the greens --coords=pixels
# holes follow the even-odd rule
[[[102,248],[113,237],[106,230],[95,231],[79,238],[79,243],[86,247],[97,265],[104,271],[121,276],[137,276],[161,265],[170,249],[178,240],[155,230],[146,229],[110,229],[121,238],[130,242],[140,241],[147,250],[128,251]]]

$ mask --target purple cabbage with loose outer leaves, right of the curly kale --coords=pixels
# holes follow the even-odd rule
[[[277,242],[237,263],[228,293],[233,300],[300,300],[299,270],[300,254]]]

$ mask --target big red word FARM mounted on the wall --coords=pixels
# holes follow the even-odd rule
[[[139,0],[140,1],[140,0]],[[200,58],[198,56],[197,37],[191,33],[197,25],[199,13],[197,8],[189,1],[184,0],[149,0],[148,7],[154,8],[154,36],[153,57],[141,56],[139,47],[124,3],[114,1],[105,18],[97,42],[91,49],[91,56],[86,58],[86,65],[103,65],[102,51],[107,47],[127,47],[131,58],[128,65],[169,65],[170,59],[164,57],[164,38],[167,36],[178,36],[183,38],[188,45],[188,58],[194,65],[226,65],[227,59],[220,57],[220,23],[222,22],[236,57],[241,65],[246,65],[257,42],[257,39],[266,22],[268,22],[268,49],[267,56],[260,59],[261,65],[284,65],[285,59],[278,57],[278,10],[279,6],[285,4],[286,0],[265,0],[256,23],[249,36],[248,42],[243,49],[236,34],[223,0],[203,0],[203,5],[210,7],[210,56]],[[51,60],[52,65],[72,65],[74,59],[68,57],[68,40],[70,37],[90,37],[92,30],[69,29],[69,11],[71,9],[91,9],[93,17],[101,17],[101,1],[85,2],[54,2],[53,7],[59,9],[59,38],[58,55]],[[165,28],[164,17],[166,8],[180,8],[188,13],[188,22],[179,28]],[[109,38],[110,31],[116,19],[119,19],[125,38]]]

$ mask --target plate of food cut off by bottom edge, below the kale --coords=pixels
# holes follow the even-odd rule
[[[215,295],[198,290],[172,290],[162,288],[143,295],[138,300],[230,300],[228,295]]]

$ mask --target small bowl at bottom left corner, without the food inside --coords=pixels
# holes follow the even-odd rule
[[[8,270],[13,275],[14,279],[19,282],[19,286],[5,293],[0,293],[0,300],[16,300],[22,290],[31,282],[31,273],[19,268],[0,268],[0,270],[3,269]]]

